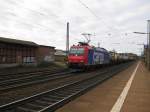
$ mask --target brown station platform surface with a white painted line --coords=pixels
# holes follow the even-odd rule
[[[129,90],[123,99],[120,95],[127,85]],[[150,72],[142,62],[135,63],[56,112],[150,112]]]

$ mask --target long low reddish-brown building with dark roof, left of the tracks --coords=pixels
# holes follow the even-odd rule
[[[54,61],[55,47],[0,37],[0,67],[37,65]]]

